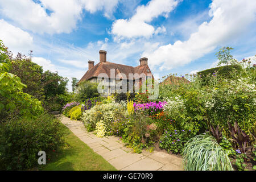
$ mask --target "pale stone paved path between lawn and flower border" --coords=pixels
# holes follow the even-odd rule
[[[98,138],[93,132],[87,132],[81,121],[72,121],[62,116],[61,122],[94,152],[100,154],[118,170],[130,171],[181,171],[183,159],[162,151],[135,154],[124,146],[117,137]]]

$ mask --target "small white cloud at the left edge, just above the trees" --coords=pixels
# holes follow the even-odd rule
[[[28,53],[32,49],[33,37],[3,19],[0,19],[0,39],[15,55],[18,52]]]

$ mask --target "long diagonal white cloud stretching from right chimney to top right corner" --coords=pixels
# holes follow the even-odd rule
[[[210,22],[203,22],[187,41],[160,46],[154,52],[143,52],[152,67],[163,65],[171,69],[190,63],[213,51],[217,46],[226,46],[243,32],[250,23],[255,23],[256,1],[213,0],[210,5]]]

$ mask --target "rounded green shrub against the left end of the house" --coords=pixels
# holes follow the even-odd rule
[[[98,97],[100,93],[98,93],[97,89],[98,84],[90,81],[83,81],[78,85],[77,93],[76,93],[76,101],[84,102],[88,98]]]

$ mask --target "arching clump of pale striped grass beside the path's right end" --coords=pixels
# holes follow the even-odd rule
[[[188,140],[183,156],[187,171],[233,171],[228,155],[216,140],[207,134]]]

